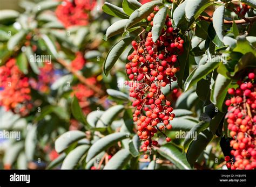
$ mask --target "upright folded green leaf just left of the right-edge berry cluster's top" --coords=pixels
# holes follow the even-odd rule
[[[232,80],[218,74],[211,91],[211,102],[217,106],[219,111],[222,111],[222,106],[227,95],[227,90]]]

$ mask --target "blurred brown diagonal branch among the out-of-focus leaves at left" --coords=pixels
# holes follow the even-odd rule
[[[99,95],[103,95],[103,91],[101,89],[99,89],[98,87],[96,87],[96,85],[90,84],[87,82],[86,78],[79,74],[77,70],[73,69],[72,67],[69,66],[68,63],[66,63],[63,59],[57,59],[57,61],[62,64],[62,66],[64,66],[68,71],[70,71],[70,73],[72,73],[73,75],[75,75],[78,80],[82,83],[84,83],[86,85],[86,87],[92,89],[93,91],[95,91],[96,93],[98,93]]]

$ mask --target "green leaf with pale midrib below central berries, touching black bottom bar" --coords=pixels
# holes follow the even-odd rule
[[[161,146],[157,151],[161,156],[170,160],[179,169],[191,169],[186,160],[186,155],[181,153],[181,150],[173,143],[167,143]]]

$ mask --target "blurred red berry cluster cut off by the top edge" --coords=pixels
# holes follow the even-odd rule
[[[65,0],[56,9],[57,18],[65,27],[73,25],[88,25],[90,20],[90,11],[97,4],[97,0]]]

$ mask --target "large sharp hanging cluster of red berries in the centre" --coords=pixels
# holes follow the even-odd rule
[[[154,8],[154,11],[158,10],[158,7]],[[151,13],[147,20],[151,21],[153,17],[154,13]],[[134,98],[132,106],[136,107],[133,120],[137,121],[139,138],[144,140],[144,152],[158,145],[152,137],[158,131],[171,130],[170,121],[175,117],[171,102],[163,95],[161,87],[177,81],[177,55],[183,52],[184,40],[178,37],[177,30],[173,30],[169,16],[165,25],[166,29],[156,42],[152,40],[152,32],[147,32],[139,42],[132,41],[134,51],[127,56],[129,62],[125,66],[133,81],[130,83],[130,96]],[[166,141],[170,140],[166,136]],[[147,155],[144,158],[147,159]]]

